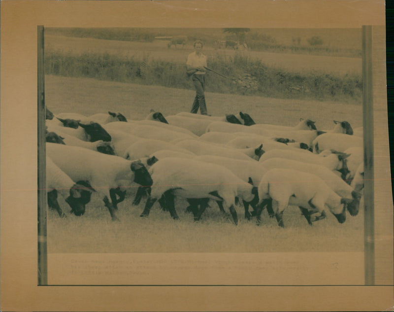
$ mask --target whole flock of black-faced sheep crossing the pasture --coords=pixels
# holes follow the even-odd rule
[[[186,207],[175,207],[176,197],[187,199],[195,221],[215,202],[230,210],[235,224],[235,205],[257,224],[266,208],[281,227],[288,205],[298,206],[308,224],[327,217],[326,209],[340,223],[347,212],[359,212],[362,128],[347,121],[317,130],[309,119],[295,127],[256,124],[242,112],[164,117],[151,111],[137,121],[114,112],[54,115],[47,109],[46,118],[48,207],[61,217],[58,192],[78,216],[97,192],[118,220],[118,204],[136,185],[132,204],[146,198],[141,217],[158,201],[178,219],[176,208]]]

